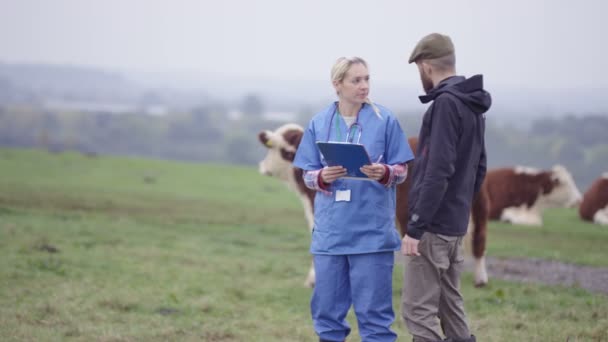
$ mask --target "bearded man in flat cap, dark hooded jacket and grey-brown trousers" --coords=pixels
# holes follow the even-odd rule
[[[486,173],[484,113],[491,98],[481,75],[456,75],[454,44],[446,35],[422,38],[409,63],[418,66],[426,92],[420,101],[432,103],[418,136],[401,244],[402,315],[415,342],[442,341],[441,330],[444,341],[473,342],[460,294],[462,240]]]

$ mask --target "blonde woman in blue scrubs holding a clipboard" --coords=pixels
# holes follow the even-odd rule
[[[339,58],[331,79],[338,101],[312,118],[294,160],[305,171],[306,186],[317,190],[310,247],[316,272],[313,324],[320,341],[344,341],[352,304],[363,342],[392,342],[397,338],[390,329],[392,273],[401,241],[395,186],[405,180],[405,163],[414,156],[393,114],[369,100],[363,59]],[[346,170],[327,166],[317,141],[364,145],[375,163],[361,172],[372,181],[343,178]]]

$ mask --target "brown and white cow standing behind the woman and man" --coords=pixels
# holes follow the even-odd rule
[[[302,171],[293,167],[295,151],[302,139],[303,129],[295,124],[286,124],[279,127],[274,132],[260,132],[258,138],[260,142],[268,148],[268,153],[264,160],[260,162],[260,172],[273,176],[287,183],[287,186],[298,193],[302,204],[308,228],[312,231],[313,227],[313,203],[314,191],[308,189],[302,180]],[[417,138],[410,138],[408,141],[412,151],[416,151],[418,145]],[[409,164],[410,172],[412,163]],[[397,212],[396,217],[400,226],[401,235],[405,235],[408,221],[408,202],[407,196],[411,186],[411,177],[407,177],[405,182],[397,186]],[[482,191],[476,196],[473,208],[473,234],[472,252],[475,258],[475,285],[483,286],[488,282],[485,267],[485,244],[487,231],[487,198]],[[314,268],[311,267],[306,278],[305,285],[312,287],[315,283]]]

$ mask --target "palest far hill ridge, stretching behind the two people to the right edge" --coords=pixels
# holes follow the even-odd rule
[[[221,101],[235,101],[246,94],[255,93],[265,103],[277,109],[310,105],[321,108],[335,99],[329,80],[292,80],[255,78],[218,73],[130,73],[130,77],[149,86],[165,85],[173,89],[205,89]],[[413,83],[415,82],[415,83]],[[416,84],[412,86],[411,84]],[[552,89],[550,85],[526,84],[521,87],[497,85],[485,80],[492,93],[492,112],[501,121],[527,121],[531,117],[564,116],[567,114],[608,115],[605,88]],[[423,111],[426,106],[418,101],[422,88],[418,80],[404,80],[403,84],[372,82],[371,97],[394,111]],[[515,119],[515,120],[513,120]]]

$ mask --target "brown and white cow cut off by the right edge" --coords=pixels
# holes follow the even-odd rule
[[[583,220],[608,225],[608,172],[591,184],[578,212]]]

